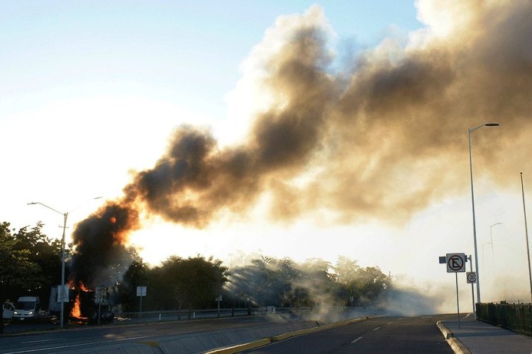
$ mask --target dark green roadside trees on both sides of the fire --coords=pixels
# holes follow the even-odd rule
[[[16,300],[25,295],[39,296],[48,304],[50,288],[61,282],[60,240],[50,239],[35,227],[12,229],[0,224],[0,299]],[[69,249],[67,248],[67,278]],[[75,252],[75,250],[74,250]],[[143,311],[216,307],[317,307],[371,306],[377,304],[389,280],[377,267],[360,267],[357,261],[339,257],[336,263],[312,258],[297,263],[290,258],[245,256],[226,265],[214,258],[197,255],[171,256],[150,267],[129,249],[131,262],[124,267],[116,261],[111,287],[113,302],[123,311],[138,311],[136,287],[148,287]],[[243,257],[244,258],[244,257]],[[122,269],[126,269],[125,272]],[[111,269],[111,273],[113,272]],[[99,285],[98,285],[99,286]]]

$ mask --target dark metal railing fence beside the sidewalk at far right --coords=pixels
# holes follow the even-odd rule
[[[477,319],[516,333],[532,336],[531,304],[476,304]]]

